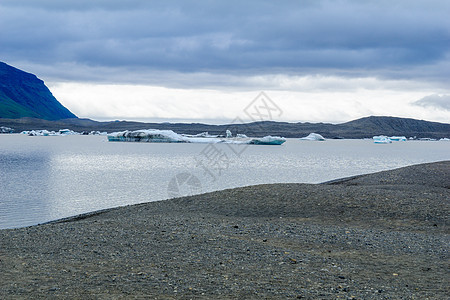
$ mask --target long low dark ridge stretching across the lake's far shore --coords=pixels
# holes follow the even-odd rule
[[[129,121],[97,122],[89,119],[63,119],[48,121],[34,118],[0,119],[0,126],[14,128],[16,132],[31,129],[59,130],[70,128],[75,131],[122,131],[138,129],[170,129],[177,133],[196,134],[208,131],[210,134],[224,134],[227,129],[233,134],[244,133],[248,136],[261,137],[279,135],[287,138],[307,136],[311,132],[325,138],[371,138],[374,135],[404,135],[418,138],[450,137],[450,124],[428,122],[423,120],[395,117],[366,117],[342,123],[287,123],[287,122],[254,122],[245,124],[208,125],[200,123],[141,123]]]

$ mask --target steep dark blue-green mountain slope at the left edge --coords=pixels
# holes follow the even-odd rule
[[[77,118],[36,75],[0,62],[0,118]]]

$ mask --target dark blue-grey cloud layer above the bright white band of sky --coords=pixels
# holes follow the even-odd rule
[[[3,0],[0,57],[77,80],[91,76],[48,66],[444,82],[448,11],[448,1]]]

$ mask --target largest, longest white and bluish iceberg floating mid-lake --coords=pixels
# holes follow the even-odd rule
[[[136,131],[120,131],[108,134],[110,142],[147,142],[147,143],[207,143],[207,144],[252,144],[252,145],[281,145],[286,142],[279,136],[265,136],[263,138],[232,137],[227,131],[227,137],[219,138],[209,134],[183,135],[172,130],[142,129]]]

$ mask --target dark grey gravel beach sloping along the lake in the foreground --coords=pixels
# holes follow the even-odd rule
[[[448,299],[450,161],[0,230],[0,298]]]

